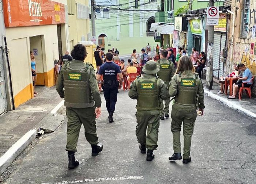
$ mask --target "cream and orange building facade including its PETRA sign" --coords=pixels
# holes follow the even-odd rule
[[[66,0],[4,0],[4,22],[15,107],[33,98],[30,51],[37,66],[36,85],[52,87],[54,60],[69,49]],[[20,17],[23,19],[21,20]]]

